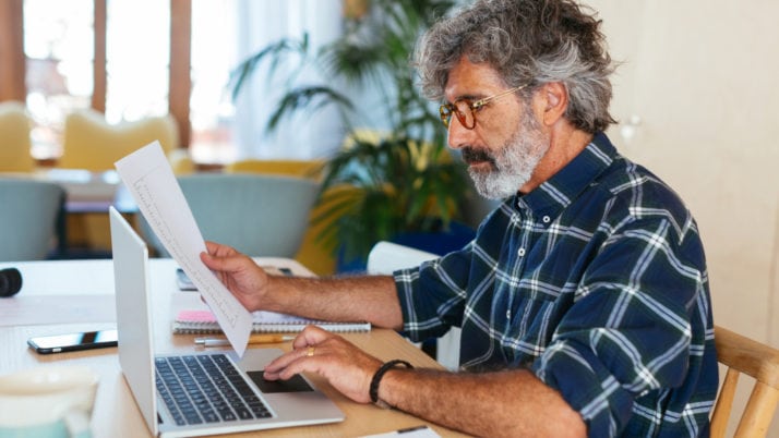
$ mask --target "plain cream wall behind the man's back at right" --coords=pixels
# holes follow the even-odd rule
[[[716,324],[779,346],[779,2],[587,3],[624,62],[614,115],[640,119],[612,139],[695,215]]]

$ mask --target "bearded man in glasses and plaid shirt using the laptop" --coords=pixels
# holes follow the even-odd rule
[[[479,436],[706,436],[718,385],[708,279],[679,197],[602,134],[612,72],[572,0],[479,0],[418,63],[479,192],[505,199],[462,251],[393,277],[289,279],[208,243],[249,309],[463,328],[464,372],[382,366],[309,328],[267,378],[324,376],[358,402]],[[376,400],[373,400],[376,399]]]

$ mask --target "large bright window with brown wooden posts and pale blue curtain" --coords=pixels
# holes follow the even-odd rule
[[[109,123],[172,113],[197,162],[321,157],[339,143],[332,121],[290,123],[268,137],[268,96],[278,89],[268,93],[259,75],[242,106],[227,89],[241,59],[303,28],[315,44],[337,35],[340,0],[2,0],[0,100],[26,101],[41,160],[61,155],[65,115],[89,107]]]

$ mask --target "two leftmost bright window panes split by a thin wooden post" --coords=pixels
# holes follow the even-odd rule
[[[62,154],[64,119],[72,111],[105,108],[109,123],[168,112],[169,2],[24,0],[23,4],[25,102],[35,123],[31,151],[35,158],[56,159]],[[105,14],[96,14],[98,5]],[[101,38],[105,53],[96,53]],[[101,56],[105,65],[96,65]],[[105,77],[99,77],[103,71]],[[96,78],[104,87],[95,86]]]

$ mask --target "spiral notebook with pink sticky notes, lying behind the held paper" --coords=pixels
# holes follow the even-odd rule
[[[370,323],[332,323],[266,311],[252,313],[252,331],[255,333],[297,332],[309,325],[335,332],[371,331]],[[175,334],[205,334],[219,333],[221,329],[209,311],[184,309],[176,315],[172,331]]]

